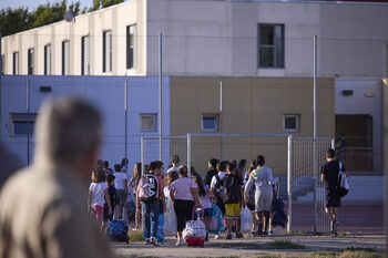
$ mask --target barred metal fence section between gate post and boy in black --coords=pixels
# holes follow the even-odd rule
[[[329,219],[325,214],[325,185],[320,182],[320,167],[326,162],[326,151],[333,146],[330,138],[293,138],[293,203],[304,204],[310,213],[313,230],[329,229]],[[316,171],[314,171],[314,147],[316,147]]]

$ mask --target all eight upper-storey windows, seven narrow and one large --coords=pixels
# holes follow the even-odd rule
[[[134,65],[135,25],[126,27],[126,69]],[[258,24],[258,68],[284,68],[284,24]],[[112,71],[112,31],[102,37],[102,72]],[[51,44],[44,45],[44,75],[51,74]],[[19,74],[19,52],[12,54],[12,74]],[[34,74],[34,49],[28,50],[28,74]],[[62,75],[70,73],[70,42],[62,42]],[[81,75],[90,74],[90,38],[81,38]]]

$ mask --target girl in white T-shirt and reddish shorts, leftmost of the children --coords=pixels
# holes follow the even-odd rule
[[[105,198],[105,199],[104,199]],[[91,210],[99,223],[102,223],[103,205],[108,203],[108,214],[112,214],[111,200],[105,183],[105,172],[102,168],[95,168],[92,172],[92,183],[89,187],[88,210]],[[103,230],[101,225],[101,230]]]

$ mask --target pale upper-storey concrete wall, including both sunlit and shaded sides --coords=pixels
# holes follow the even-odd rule
[[[61,42],[70,41],[70,73],[81,74],[81,37],[91,37],[91,74],[154,75],[159,72],[159,33],[163,71],[169,75],[310,76],[313,37],[318,35],[319,76],[372,78],[384,74],[388,18],[386,3],[131,0],[6,37],[6,73],[12,52],[35,48],[35,74],[43,73],[43,47],[52,43],[53,74],[61,74]],[[257,24],[285,25],[284,69],[257,69]],[[125,27],[136,24],[135,69],[125,69]],[[102,73],[102,33],[113,33],[113,70]]]

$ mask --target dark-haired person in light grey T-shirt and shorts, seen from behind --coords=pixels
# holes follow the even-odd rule
[[[245,186],[244,196],[249,198],[249,190],[255,185],[255,211],[257,213],[257,219],[259,220],[258,231],[263,236],[268,235],[269,213],[273,199],[272,185],[278,182],[278,178],[274,178],[270,168],[264,166],[265,158],[262,155],[257,156],[257,168],[251,173],[249,179]]]

